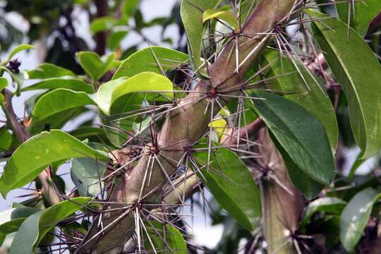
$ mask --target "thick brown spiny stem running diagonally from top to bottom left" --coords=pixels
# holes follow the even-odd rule
[[[205,98],[205,93],[209,92],[212,87],[224,85],[224,90],[231,90],[231,94],[238,93],[236,89],[243,84],[243,78],[246,72],[252,65],[253,61],[258,58],[262,50],[266,47],[268,35],[263,33],[271,32],[274,25],[282,22],[289,16],[289,12],[293,11],[296,0],[262,0],[258,1],[258,5],[248,18],[248,23],[243,28],[238,44],[238,59],[240,68],[236,72],[236,56],[234,44],[230,42],[219,59],[207,68],[210,75],[210,80],[202,80],[195,92],[192,92],[188,97],[182,99],[178,109],[171,111],[167,117],[162,130],[158,135],[159,149],[160,147],[171,147],[171,151],[160,151],[157,155],[160,164],[155,163],[152,169],[151,181],[148,184],[145,181],[145,171],[148,170],[148,156],[142,157],[137,166],[128,176],[127,183],[119,188],[118,202],[133,203],[139,200],[140,194],[143,196],[149,193],[157,193],[155,197],[151,197],[144,202],[160,202],[161,190],[167,182],[165,174],[171,175],[176,170],[176,162],[181,159],[184,153],[184,148],[192,143],[195,143],[206,131],[207,124],[210,122],[211,107],[210,104],[215,104],[213,114],[217,113],[217,103],[214,101],[208,102]],[[234,52],[231,54],[231,52]],[[233,92],[233,90],[237,90]],[[198,95],[198,96],[197,96]],[[209,110],[205,114],[205,108],[209,104]],[[223,104],[223,102],[222,102]],[[169,159],[168,159],[169,158]],[[165,171],[165,174],[164,174]],[[143,193],[140,193],[143,186]],[[122,211],[116,212],[115,215],[109,218],[121,216]],[[104,224],[114,222],[114,219],[109,219]],[[121,232],[126,230],[126,226],[131,226],[121,236]],[[90,239],[95,239],[95,235],[99,231],[97,226],[92,226],[90,234],[86,237],[83,243],[87,246],[82,248],[82,253],[118,253],[123,250],[123,245],[126,238],[130,237],[134,230],[131,217],[124,217],[120,222],[109,226],[107,230],[102,232],[102,237],[96,241],[90,242]],[[91,240],[92,241],[92,240]],[[112,246],[112,250],[110,249]]]

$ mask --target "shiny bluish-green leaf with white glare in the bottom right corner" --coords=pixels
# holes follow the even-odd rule
[[[346,205],[340,217],[340,241],[348,252],[352,252],[363,236],[373,204],[380,198],[373,188],[357,193]]]

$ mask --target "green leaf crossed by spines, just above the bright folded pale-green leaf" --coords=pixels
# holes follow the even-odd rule
[[[145,71],[162,74],[160,66],[163,71],[170,71],[180,66],[181,63],[186,63],[186,61],[188,61],[188,55],[174,49],[157,46],[147,47],[140,49],[123,61],[112,79],[132,77]]]

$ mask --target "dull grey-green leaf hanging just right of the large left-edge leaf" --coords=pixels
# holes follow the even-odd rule
[[[81,196],[96,196],[101,193],[106,164],[92,158],[74,158],[71,160],[71,179]]]

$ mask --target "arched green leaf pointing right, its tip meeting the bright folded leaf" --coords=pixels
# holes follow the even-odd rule
[[[75,92],[63,88],[52,90],[37,100],[32,112],[32,123],[35,125],[54,114],[91,104],[96,103],[86,92]]]

